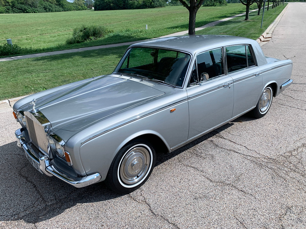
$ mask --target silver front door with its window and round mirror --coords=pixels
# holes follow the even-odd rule
[[[189,87],[188,139],[198,136],[232,118],[233,79],[225,75],[223,51],[213,49],[196,57]],[[199,83],[200,79],[202,81]]]

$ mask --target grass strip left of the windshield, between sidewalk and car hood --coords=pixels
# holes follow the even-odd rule
[[[0,100],[111,73],[127,47],[0,62]]]

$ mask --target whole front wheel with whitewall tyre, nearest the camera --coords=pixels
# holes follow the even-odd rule
[[[152,173],[156,153],[145,139],[129,142],[115,156],[106,184],[117,193],[129,193],[143,185]]]

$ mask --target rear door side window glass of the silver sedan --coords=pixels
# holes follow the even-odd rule
[[[226,50],[226,61],[228,72],[237,71],[255,65],[254,57],[249,45],[228,46]]]

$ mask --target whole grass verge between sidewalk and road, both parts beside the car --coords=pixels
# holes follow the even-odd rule
[[[256,39],[284,7],[265,11],[263,28],[257,12],[234,18],[197,34],[239,35]],[[69,12],[68,12],[69,13]],[[32,14],[31,14],[32,15]],[[0,62],[0,100],[39,92],[55,86],[111,73],[127,46]]]

